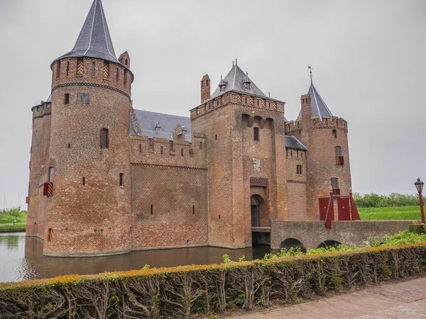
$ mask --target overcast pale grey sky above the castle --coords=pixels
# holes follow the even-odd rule
[[[0,208],[25,203],[31,106],[70,51],[92,0],[0,0]],[[348,121],[354,191],[414,193],[426,180],[426,1],[104,0],[116,54],[131,56],[133,107],[189,116],[200,79],[232,60],[295,119],[314,84]]]

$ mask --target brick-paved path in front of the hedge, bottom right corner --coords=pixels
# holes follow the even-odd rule
[[[282,307],[266,313],[239,315],[233,318],[426,319],[426,278],[397,284],[384,284],[342,296],[320,299],[320,301]]]

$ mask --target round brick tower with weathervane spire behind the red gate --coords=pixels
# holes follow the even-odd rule
[[[318,198],[349,195],[348,128],[343,118],[334,116],[312,82],[307,94],[300,98],[297,120],[286,123],[286,133],[307,146],[306,195],[307,218],[320,220]],[[337,213],[337,210],[335,210]],[[336,217],[337,220],[337,217]]]

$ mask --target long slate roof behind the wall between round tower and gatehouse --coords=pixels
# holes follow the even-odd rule
[[[141,136],[148,138],[168,138],[173,140],[173,132],[176,125],[186,125],[187,133],[185,141],[192,142],[191,119],[185,116],[175,116],[171,114],[156,113],[151,111],[133,110],[141,128]],[[160,130],[155,130],[155,124],[160,124]],[[133,128],[133,122],[130,121],[130,135],[138,135]]]

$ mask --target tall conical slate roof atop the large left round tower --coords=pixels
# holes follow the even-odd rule
[[[120,63],[114,52],[101,0],[93,1],[74,48],[55,61],[64,57],[94,57]]]

